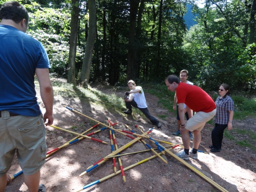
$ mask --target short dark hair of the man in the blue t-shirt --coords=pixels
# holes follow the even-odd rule
[[[16,24],[26,19],[26,25],[29,24],[29,14],[24,6],[18,2],[5,2],[0,8],[0,19],[11,19]]]

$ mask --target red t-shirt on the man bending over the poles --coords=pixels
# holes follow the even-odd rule
[[[179,83],[176,89],[179,103],[185,103],[195,112],[211,112],[216,108],[214,100],[201,88],[187,83]]]

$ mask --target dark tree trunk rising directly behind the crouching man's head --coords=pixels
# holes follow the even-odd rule
[[[130,27],[129,27],[129,48],[127,58],[127,80],[133,79],[134,71],[134,40],[136,29],[136,16],[138,13],[139,0],[130,1]]]

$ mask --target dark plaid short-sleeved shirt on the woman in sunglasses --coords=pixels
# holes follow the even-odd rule
[[[229,111],[234,111],[234,102],[228,95],[226,98],[220,98],[215,101],[216,115],[214,122],[217,124],[227,124],[229,120]]]

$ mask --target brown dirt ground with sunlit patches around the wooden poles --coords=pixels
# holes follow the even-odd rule
[[[97,87],[105,93],[115,93],[118,96],[123,96],[123,91],[115,91],[105,87]],[[38,90],[37,93],[39,94]],[[174,113],[168,113],[166,109],[158,105],[158,98],[145,93],[147,106],[152,116],[159,119],[162,124],[161,129],[155,128],[151,133],[151,137],[157,138],[172,143],[181,143],[181,137],[174,136],[172,133],[176,132],[177,120]],[[44,105],[38,95],[42,112],[44,112]],[[82,133],[92,127],[96,122],[89,120],[86,117],[73,113],[63,105],[67,105],[74,110],[83,113],[93,119],[102,123],[108,124],[108,118],[111,122],[118,122],[114,126],[115,129],[129,131],[125,124],[129,125],[136,133],[141,134],[139,130],[134,127],[139,125],[144,131],[149,130],[153,125],[147,119],[142,119],[139,115],[124,115],[115,114],[103,108],[103,106],[85,104],[79,98],[70,96],[56,95],[54,98],[54,123],[53,125]],[[134,111],[136,113],[136,110]],[[167,115],[165,120],[159,118],[159,115]],[[256,119],[234,120],[233,127],[240,129],[249,129],[255,132]],[[97,126],[92,131],[99,130],[102,125]],[[202,131],[202,141],[199,150],[210,152],[208,145],[211,144],[211,130],[213,125],[206,124]],[[47,145],[48,151],[61,146],[62,144],[74,138],[74,135],[59,131],[53,127],[47,126]],[[98,160],[111,154],[111,142],[109,130],[104,130],[92,137],[108,142],[103,144],[89,139],[83,139],[74,144],[60,149],[58,152],[52,154],[46,159],[45,165],[41,168],[41,182],[47,187],[47,191],[77,191],[83,186],[95,182],[103,177],[114,173],[113,161],[109,159],[105,163],[99,165],[91,172],[79,177],[90,165]],[[124,144],[131,141],[130,138],[115,132],[117,145],[120,148]],[[241,137],[241,135],[234,135],[234,137]],[[245,138],[246,139],[246,138]],[[149,140],[145,141],[152,147],[155,147]],[[162,144],[166,146],[166,144]],[[192,147],[192,142],[190,142]],[[147,148],[143,143],[135,143],[123,152],[131,153]],[[172,150],[173,153],[178,153],[182,148],[177,147]],[[157,151],[158,152],[158,151]],[[123,167],[130,166],[145,158],[151,157],[152,152],[144,152],[135,155],[126,155],[121,157]],[[83,191],[219,191],[210,183],[199,177],[195,172],[184,166],[172,156],[165,154],[164,159],[167,160],[165,164],[159,158],[154,158],[146,161],[138,166],[126,170],[123,181],[121,174],[116,175],[108,180],[95,184]],[[120,170],[118,160],[116,159],[117,170]],[[220,153],[198,153],[198,160],[189,159],[186,161],[189,165],[197,168],[201,173],[218,183],[228,191],[256,191],[256,155],[255,152],[249,148],[241,147],[234,141],[228,140],[224,137],[222,151]],[[15,158],[9,170],[10,175],[14,175],[20,171],[17,159]],[[6,187],[8,192],[28,191],[27,186],[23,182],[23,175],[15,178]]]

